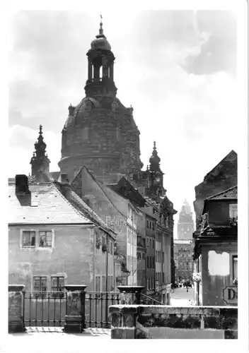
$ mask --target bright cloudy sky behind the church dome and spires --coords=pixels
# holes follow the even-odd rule
[[[229,11],[103,11],[117,97],[134,108],[144,168],[156,141],[164,187],[180,211],[195,186],[238,152],[236,15]],[[39,125],[59,171],[69,104],[84,97],[95,11],[20,11],[11,18],[8,177],[28,174]],[[178,215],[175,217],[175,223]]]

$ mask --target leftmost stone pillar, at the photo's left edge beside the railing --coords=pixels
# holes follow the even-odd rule
[[[23,332],[24,285],[8,286],[8,333]]]

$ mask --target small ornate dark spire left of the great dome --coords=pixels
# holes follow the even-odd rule
[[[35,152],[30,160],[31,174],[33,177],[40,179],[42,174],[48,175],[50,173],[50,160],[46,153],[46,143],[42,136],[42,125],[39,126],[39,136],[35,143]]]

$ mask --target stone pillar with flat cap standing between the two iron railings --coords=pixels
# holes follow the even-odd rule
[[[64,332],[81,333],[85,328],[85,296],[87,286],[65,285],[66,316]]]

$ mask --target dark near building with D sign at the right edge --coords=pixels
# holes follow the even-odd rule
[[[204,201],[194,258],[200,273],[195,286],[198,305],[238,304],[238,188]]]

